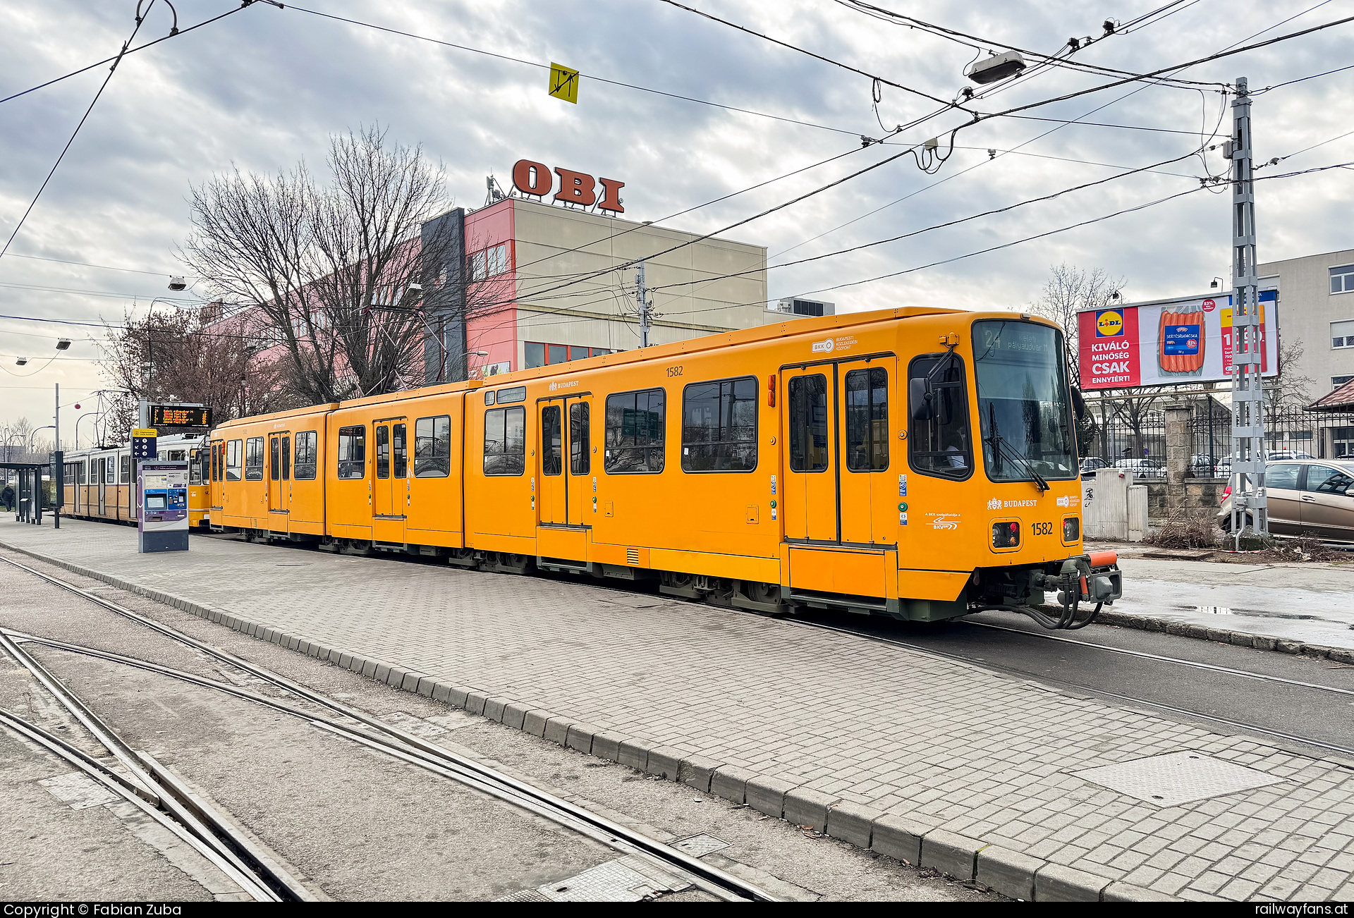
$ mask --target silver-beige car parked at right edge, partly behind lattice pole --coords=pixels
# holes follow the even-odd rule
[[[1227,532],[1232,489],[1223,494],[1217,523]],[[1265,497],[1271,533],[1354,543],[1354,462],[1275,462],[1265,468]]]

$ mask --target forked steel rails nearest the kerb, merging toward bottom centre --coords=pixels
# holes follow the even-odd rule
[[[406,730],[401,730],[399,727],[385,723],[383,720],[368,715],[366,711],[362,711],[359,708],[330,699],[325,695],[321,695],[320,692],[315,692],[301,682],[297,682],[284,676],[274,673],[272,670],[264,669],[263,666],[252,663],[241,657],[237,657],[236,654],[232,654],[227,650],[222,650],[206,642],[198,640],[196,638],[183,634],[177,628],[167,626],[161,621],[156,621],[154,619],[149,619],[137,612],[133,612],[131,609],[127,609],[126,607],[122,607],[111,600],[107,600],[102,596],[91,593],[89,590],[74,586],[73,584],[62,581],[57,577],[51,577],[50,574],[45,574],[43,571],[35,570],[27,565],[16,562],[12,558],[0,556],[0,561],[5,561],[14,567],[24,570],[38,577],[39,580],[47,581],[54,586],[60,586],[64,590],[81,596],[83,598],[110,612],[114,612],[131,621],[137,621],[138,624],[142,624],[172,640],[194,647],[195,650],[200,650],[202,653],[214,657],[215,659],[219,659],[225,663],[229,663],[230,666],[234,666],[240,670],[244,670],[245,673],[249,673],[250,676],[255,676],[256,678],[269,682],[275,688],[279,688],[284,692],[290,692],[298,697],[311,701],[313,704],[318,704],[330,711],[334,711],[345,718],[357,720],[359,723],[363,723],[379,731],[380,734],[386,734],[387,737],[391,737],[393,739],[398,741],[398,743],[412,750],[417,750],[417,753],[420,753],[422,757],[431,757],[433,760],[437,760],[435,764],[439,765],[440,768],[447,770],[454,770],[458,774],[464,776],[464,777],[458,777],[456,780],[481,781],[486,788],[496,787],[502,792],[510,792],[515,797],[512,800],[513,803],[517,803],[519,806],[531,804],[527,806],[527,808],[538,811],[540,812],[540,815],[544,815],[546,818],[550,818],[554,822],[561,822],[559,816],[567,815],[569,819],[575,823],[589,826],[592,830],[600,830],[607,835],[620,839],[624,842],[627,848],[632,848],[636,850],[636,853],[646,854],[650,858],[661,861],[666,868],[678,868],[684,875],[688,876],[688,879],[696,881],[696,884],[700,886],[707,892],[712,892],[714,895],[718,895],[724,899],[734,898],[734,899],[747,899],[753,902],[776,902],[776,898],[769,892],[766,892],[765,890],[746,880],[742,880],[734,876],[733,873],[722,871],[711,864],[705,864],[699,858],[691,857],[685,852],[677,850],[670,845],[666,845],[661,841],[657,841],[642,833],[628,829],[627,826],[623,826],[612,819],[601,816],[577,804],[569,803],[567,800],[563,800],[547,791],[533,787],[527,781],[521,781],[519,779],[512,777],[510,774],[505,774],[502,772],[498,772],[497,769],[489,768],[487,765],[482,765],[474,761],[473,758],[459,756],[451,751],[450,749],[428,742],[421,737],[417,737]],[[22,636],[27,640],[45,643],[47,646],[57,646],[60,643],[64,643],[64,642],[53,642],[45,638],[38,638],[34,635],[22,635]],[[11,644],[14,643],[9,638],[4,638],[4,640],[9,640]],[[107,654],[107,651],[96,651],[93,649],[80,649],[76,644],[69,644],[66,646],[66,649],[74,650],[77,653],[92,651],[96,655],[106,655],[106,658],[110,659],[114,657],[121,657],[119,654]],[[135,661],[135,658],[130,657],[121,657],[118,662],[127,662],[142,668],[157,668],[158,670],[165,670],[165,674],[177,673],[177,670],[167,672],[169,670],[169,668],[161,668],[157,663],[149,663],[149,661]],[[185,673],[184,676],[192,676],[192,674]],[[203,678],[203,677],[192,676],[192,678]],[[214,680],[206,680],[206,681],[214,682]],[[219,688],[222,691],[226,691],[226,685],[223,682],[215,682],[213,688]],[[234,685],[229,686],[229,689],[233,691],[234,693],[242,691]],[[263,700],[263,699],[267,699],[267,696],[260,695],[255,700]],[[274,707],[276,707],[278,704],[275,699],[267,699],[267,701],[264,703]],[[297,711],[299,712],[301,709],[298,708]],[[310,720],[315,720],[315,715],[313,714],[303,714],[303,716],[306,716]],[[330,723],[333,727],[337,727],[340,730],[348,730],[348,731],[352,730],[351,727],[347,727],[345,724],[337,722],[330,722]],[[372,741],[374,738],[364,737],[364,739]],[[391,749],[402,754],[409,754],[409,749],[399,749],[398,746],[391,746]],[[544,812],[536,810],[535,807],[543,808]]]

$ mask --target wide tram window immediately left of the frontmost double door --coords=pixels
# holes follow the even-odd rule
[[[692,383],[681,394],[682,471],[757,467],[757,379]]]

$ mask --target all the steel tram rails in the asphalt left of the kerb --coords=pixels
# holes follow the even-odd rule
[[[179,681],[198,685],[200,688],[214,689],[234,697],[248,700],[275,711],[295,716],[302,719],[311,726],[321,728],[329,734],[337,735],[347,741],[359,743],[368,749],[380,751],[386,756],[403,761],[409,765],[414,765],[427,772],[432,772],[448,780],[456,781],[463,787],[473,788],[492,797],[497,797],[509,804],[520,807],[528,812],[538,816],[548,819],[550,822],[578,833],[586,838],[601,842],[603,845],[623,852],[624,854],[640,857],[661,869],[677,875],[681,879],[688,880],[693,886],[704,890],[705,892],[723,899],[723,900],[754,900],[754,902],[773,902],[776,900],[769,892],[757,887],[747,880],[739,879],[726,871],[722,871],[711,864],[705,864],[696,857],[688,856],[686,853],[672,848],[661,841],[657,841],[643,833],[639,833],[628,826],[623,826],[607,816],[598,815],[581,807],[578,804],[563,800],[548,791],[538,788],[527,781],[516,779],[506,774],[498,769],[490,768],[482,762],[478,762],[466,756],[460,756],[450,749],[445,749],[437,743],[429,742],[416,734],[402,730],[398,726],[386,723],[379,718],[374,718],[367,712],[355,708],[352,705],[344,704],[336,699],[325,696],[320,692],[310,689],[309,686],[290,680],[284,676],[274,673],[263,666],[259,666],[248,659],[244,659],[230,651],[214,647],[206,642],[198,640],[190,635],[185,635],[176,628],[172,628],[161,621],[149,619],[139,615],[126,607],[122,607],[106,597],[91,593],[89,590],[81,589],[73,584],[62,581],[61,578],[51,577],[43,571],[35,570],[27,565],[16,562],[11,558],[0,558],[0,561],[23,570],[39,580],[46,581],[54,586],[58,586],[66,592],[80,596],[100,608],[112,612],[123,619],[134,621],[144,626],[176,643],[191,647],[200,651],[218,662],[227,666],[238,669],[249,676],[255,677],[269,685],[271,688],[299,699],[313,707],[328,711],[338,718],[326,716],[314,709],[306,709],[302,704],[292,703],[286,699],[279,699],[260,692],[253,692],[240,685],[230,682],[222,682],[195,673],[188,673],[185,670],[173,669],[164,666],[148,659],[141,659],[137,657],[127,657],[123,654],[116,654],[112,651],[99,650],[96,647],[85,647],[81,644],[74,644],[69,642],[57,640],[53,638],[45,638],[41,635],[31,635],[19,631],[11,631],[7,628],[0,628],[0,649],[4,649],[11,657],[14,657],[20,666],[24,666],[43,684],[46,688],[68,711],[70,711],[77,720],[80,720],[95,738],[103,743],[110,751],[112,751],[123,765],[129,768],[135,776],[138,783],[144,783],[150,788],[156,789],[156,793],[162,789],[164,793],[160,795],[161,803],[165,804],[171,812],[173,822],[181,827],[198,826],[198,831],[190,831],[200,842],[211,842],[207,837],[215,837],[218,842],[222,841],[222,834],[229,834],[229,822],[221,821],[223,825],[219,826],[221,834],[215,831],[217,826],[203,825],[203,821],[192,812],[192,810],[184,804],[183,800],[177,799],[175,792],[181,791],[181,788],[175,788],[172,780],[164,780],[165,774],[156,774],[156,769],[152,766],[153,760],[146,761],[141,758],[137,753],[133,753],[126,747],[125,743],[116,737],[114,730],[102,722],[102,719],[95,715],[88,705],[85,705],[73,692],[70,692],[58,677],[50,673],[39,661],[37,661],[31,654],[28,654],[23,644],[38,644],[43,647],[50,647],[53,650],[80,654],[89,658],[103,659],[107,662],[130,666],[149,673],[157,673]],[[3,712],[0,712],[3,714]],[[27,722],[19,722],[20,719],[9,715],[8,718],[0,718],[0,723],[9,727],[15,733],[22,733],[32,739],[30,733],[24,731],[24,724]],[[356,723],[357,726],[353,726]],[[31,730],[41,730],[32,724],[27,724]],[[57,738],[53,738],[57,739]],[[34,742],[38,742],[34,739]],[[49,751],[57,753],[53,746],[47,743],[39,743],[49,749]],[[69,750],[65,750],[69,751]],[[122,753],[122,754],[119,754]],[[66,756],[62,756],[66,761],[73,761]],[[100,764],[93,760],[93,766],[97,768]],[[85,766],[89,766],[88,762]],[[119,789],[119,795],[123,792],[131,792],[126,787],[126,781],[116,776],[115,772],[102,766],[103,777],[102,784],[114,783]],[[87,770],[84,766],[81,770]],[[160,769],[162,772],[162,769]],[[148,773],[149,772],[149,773]],[[145,803],[145,802],[144,802]],[[165,814],[161,814],[164,816]],[[238,835],[238,833],[236,833]],[[238,839],[237,839],[238,841]],[[245,839],[246,841],[246,839]],[[230,848],[229,842],[225,845]],[[222,856],[219,850],[213,849],[214,853]],[[232,857],[240,860],[237,852],[232,852]],[[215,862],[215,861],[214,861]],[[227,861],[230,862],[230,861]],[[255,869],[256,865],[250,865],[246,860],[234,867],[236,873],[242,868],[245,871],[241,877],[242,888],[255,895],[255,898],[271,898],[286,899],[292,898],[287,892],[279,894],[275,891],[274,883],[268,879],[263,879],[263,875]],[[241,879],[236,877],[236,873],[229,873],[232,879],[240,883]],[[253,877],[253,879],[250,879]],[[250,890],[245,884],[252,884],[255,887],[263,886],[261,890]],[[303,888],[303,887],[302,887]],[[269,896],[269,894],[272,894]],[[297,891],[292,891],[299,894]]]

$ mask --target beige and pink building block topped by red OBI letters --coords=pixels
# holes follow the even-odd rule
[[[459,237],[448,257],[460,248],[468,283],[463,309],[429,311],[428,383],[638,348],[636,269],[620,267],[638,259],[650,344],[784,320],[766,309],[765,246],[630,221],[621,183],[570,169],[523,160],[510,194],[487,183],[483,207],[432,222],[451,221],[436,232]]]

